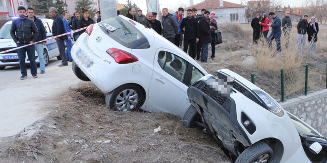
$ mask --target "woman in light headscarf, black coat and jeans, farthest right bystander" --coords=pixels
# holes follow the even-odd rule
[[[317,35],[319,32],[318,23],[316,22],[316,18],[313,16],[310,19],[310,23],[307,27],[308,41],[310,42],[310,52],[316,52],[316,43],[317,43]]]

